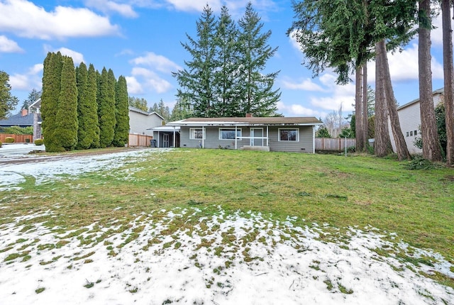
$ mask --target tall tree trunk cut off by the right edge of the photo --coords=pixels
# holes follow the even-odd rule
[[[446,163],[454,165],[454,72],[453,30],[451,27],[450,0],[441,1],[443,21],[443,74],[446,123]]]

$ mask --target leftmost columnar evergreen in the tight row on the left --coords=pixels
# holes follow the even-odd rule
[[[60,98],[61,74],[63,57],[60,52],[49,52],[44,60],[43,67],[43,93],[41,94],[41,128],[45,150],[48,152],[62,151],[55,132],[57,123],[57,109]]]

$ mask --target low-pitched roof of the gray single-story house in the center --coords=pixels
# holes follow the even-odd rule
[[[168,126],[314,126],[321,125],[315,117],[249,117],[249,118],[186,118],[167,123]]]

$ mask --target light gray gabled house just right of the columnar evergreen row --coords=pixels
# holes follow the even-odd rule
[[[129,106],[129,133],[153,135],[151,128],[164,125],[165,120],[156,112],[146,111]]]

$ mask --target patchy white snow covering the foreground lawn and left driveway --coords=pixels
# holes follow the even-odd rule
[[[26,177],[37,184],[60,174],[77,179],[82,172],[111,170],[157,153],[163,151],[4,165],[0,191],[20,188]],[[0,211],[7,206],[0,203]],[[117,232],[113,221],[55,233],[38,221],[55,211],[7,223],[0,216],[0,305],[454,304],[453,289],[419,274],[437,271],[454,277],[441,255],[411,248],[416,257],[432,258],[429,267],[374,251],[406,250],[408,245],[396,235],[349,228],[347,236],[336,237],[336,228],[328,224],[296,226],[292,217],[279,222],[216,209],[209,217],[196,208],[140,214]],[[24,224],[31,219],[37,219],[32,227]],[[328,241],[320,238],[330,233]],[[101,235],[102,243],[96,243]]]

